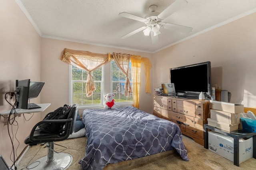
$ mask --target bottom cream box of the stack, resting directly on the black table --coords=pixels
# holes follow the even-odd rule
[[[222,130],[226,130],[228,132],[237,130],[238,129],[238,125],[239,125],[239,123],[231,125],[231,124],[228,124],[228,123],[223,123],[223,122],[220,122],[220,121],[215,121],[215,120],[213,120],[211,118],[207,118],[207,121],[208,121],[208,125],[210,125],[212,127],[220,128]]]

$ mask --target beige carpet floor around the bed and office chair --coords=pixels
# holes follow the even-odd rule
[[[189,161],[181,159],[180,155],[175,152],[168,152],[167,154],[156,154],[152,157],[146,156],[131,160],[126,163],[120,162],[117,164],[110,164],[104,170],[255,170],[256,159],[250,158],[245,162],[240,163],[240,166],[235,166],[233,162],[219,156],[204,148],[204,146],[197,144],[183,135],[183,141],[188,150]],[[86,148],[86,137],[66,139],[64,141],[55,142],[68,147],[64,152],[69,153],[73,157],[72,164],[67,168],[68,170],[79,170],[80,164],[78,161],[83,158]],[[45,146],[45,145],[44,145]],[[24,154],[18,163],[18,170],[26,170],[26,166],[47,154],[47,148],[36,145],[30,146],[28,151]],[[60,146],[55,145],[55,150],[62,150]],[[147,158],[148,157],[148,158]]]

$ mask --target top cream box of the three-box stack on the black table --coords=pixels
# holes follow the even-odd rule
[[[228,103],[223,101],[210,100],[210,109],[216,109],[219,111],[229,113],[244,113],[244,105],[238,105],[234,103]]]

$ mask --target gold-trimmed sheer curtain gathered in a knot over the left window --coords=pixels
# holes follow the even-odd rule
[[[109,62],[108,54],[91,53],[89,51],[78,51],[65,48],[60,59],[74,67],[88,72],[86,82],[86,96],[90,97],[95,90],[92,71],[102,67]]]

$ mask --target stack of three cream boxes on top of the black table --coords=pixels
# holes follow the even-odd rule
[[[229,132],[237,130],[240,124],[240,113],[244,113],[244,105],[210,101],[208,125]]]

